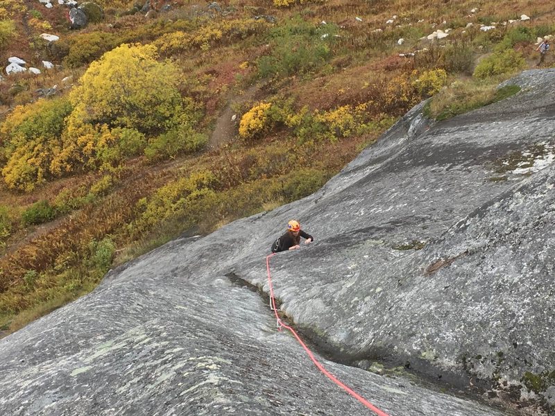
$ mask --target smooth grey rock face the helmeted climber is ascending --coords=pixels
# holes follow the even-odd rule
[[[522,92],[443,123],[415,107],[314,195],[168,243],[0,340],[0,414],[371,414],[228,278],[268,293],[265,257],[292,218],[316,241],[271,257],[273,286],[314,349],[467,395],[318,356],[343,383],[389,415],[512,414],[469,399],[471,383],[548,409],[555,71],[511,82]]]

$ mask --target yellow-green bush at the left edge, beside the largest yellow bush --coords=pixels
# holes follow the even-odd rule
[[[6,160],[2,176],[10,189],[32,191],[51,177],[51,160],[71,110],[67,98],[43,99],[16,107],[1,123],[0,160]]]

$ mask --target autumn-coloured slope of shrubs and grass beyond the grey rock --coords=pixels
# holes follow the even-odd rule
[[[422,99],[442,120],[518,93],[496,86],[555,33],[548,1],[96,3],[71,31],[64,6],[0,0],[0,60],[56,64],[0,83],[5,332],[182,232],[307,196]]]

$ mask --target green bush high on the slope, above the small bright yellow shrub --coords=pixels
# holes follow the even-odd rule
[[[271,53],[257,60],[259,77],[285,77],[320,69],[331,56],[330,42],[336,32],[332,24],[327,24],[324,31],[300,16],[273,28]]]

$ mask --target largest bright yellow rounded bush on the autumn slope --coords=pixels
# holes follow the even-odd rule
[[[71,92],[75,116],[84,123],[156,132],[171,128],[183,111],[178,71],[157,62],[151,45],[123,44],[90,64]]]

